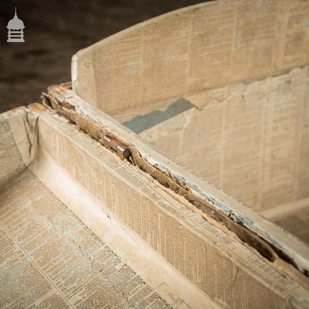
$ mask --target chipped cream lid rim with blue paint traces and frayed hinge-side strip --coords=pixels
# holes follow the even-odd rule
[[[301,272],[306,273],[307,256],[309,256],[308,247],[296,240],[294,236],[277,226],[273,226],[271,222],[237,201],[235,197],[202,179],[175,159],[121,126],[108,115],[87,104],[72,90],[68,89],[67,85],[51,86],[49,87],[49,94],[56,110],[61,110],[66,116],[74,119],[76,125],[95,140],[100,141],[105,134],[113,134],[116,139],[129,146],[133,164],[149,174],[151,179],[157,180],[168,190],[171,189],[172,192],[177,193],[176,196],[187,199],[191,203],[189,203],[189,209],[193,211],[202,210],[209,215],[208,218],[223,222],[230,231],[265,254],[269,260],[274,258],[274,264],[277,264],[282,258],[300,269]],[[74,108],[70,110],[64,108],[63,102]],[[254,239],[250,236],[252,235],[250,231],[254,235],[258,235],[258,238]],[[263,244],[266,244],[266,246]],[[280,256],[279,259],[273,256],[272,250],[269,251],[267,245],[274,248],[274,252],[277,252]],[[286,271],[287,269],[289,267],[286,268]],[[298,273],[296,269],[294,271]],[[305,286],[307,286],[307,283],[305,283],[307,280],[304,277],[303,284]]]

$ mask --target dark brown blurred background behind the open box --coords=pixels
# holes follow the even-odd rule
[[[55,83],[71,80],[71,57],[143,20],[196,4],[194,0],[0,1],[0,112],[40,101]],[[25,25],[23,43],[9,43],[7,23]]]

